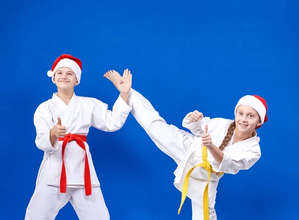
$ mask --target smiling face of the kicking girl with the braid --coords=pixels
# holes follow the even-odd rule
[[[235,121],[236,129],[241,133],[252,133],[257,126],[262,124],[258,112],[247,105],[238,107]]]

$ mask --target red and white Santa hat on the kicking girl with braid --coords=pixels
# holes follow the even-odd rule
[[[253,108],[254,110],[256,110],[261,118],[261,122],[262,124],[264,124],[266,121],[268,121],[268,117],[267,117],[267,103],[266,100],[263,99],[261,96],[258,95],[246,95],[243,96],[237,103],[236,107],[235,107],[235,116],[237,114],[237,108],[240,105],[247,105],[251,108]],[[260,128],[262,125],[256,127]]]

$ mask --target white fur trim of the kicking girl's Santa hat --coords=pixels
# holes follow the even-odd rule
[[[253,108],[254,110],[256,110],[261,118],[262,124],[264,123],[265,120],[265,116],[266,116],[266,107],[265,105],[256,97],[252,96],[252,95],[246,95],[243,96],[237,103],[236,107],[235,107],[235,116],[237,114],[237,108],[240,105],[247,105],[251,108]]]

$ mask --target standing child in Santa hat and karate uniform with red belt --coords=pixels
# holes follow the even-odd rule
[[[80,220],[110,219],[86,136],[91,126],[107,132],[122,128],[132,109],[132,75],[125,70],[111,111],[100,100],[75,95],[81,70],[80,59],[63,54],[48,71],[58,92],[34,113],[35,143],[44,157],[25,220],[54,220],[68,202]]]

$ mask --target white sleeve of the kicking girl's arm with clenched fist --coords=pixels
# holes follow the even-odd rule
[[[192,134],[197,136],[203,135],[203,128],[205,124],[210,120],[209,117],[203,117],[202,119],[199,119],[198,121],[192,122],[191,121],[191,114],[192,112],[188,113],[185,118],[183,119],[182,126],[184,128],[187,128],[191,131]]]

